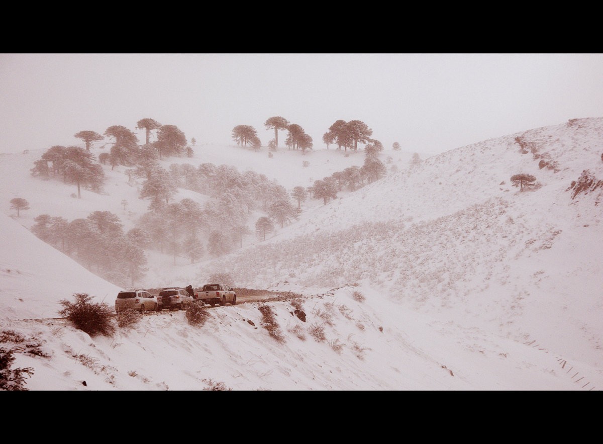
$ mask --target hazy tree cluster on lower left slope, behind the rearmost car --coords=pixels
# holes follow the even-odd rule
[[[34,221],[31,232],[38,238],[116,285],[134,285],[147,271],[148,236],[137,228],[124,233],[112,212],[95,211],[71,222],[41,214]]]

